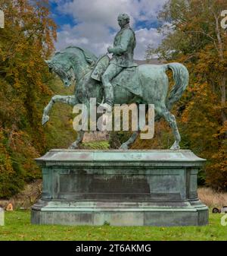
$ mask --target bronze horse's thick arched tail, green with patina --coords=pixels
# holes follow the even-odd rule
[[[166,107],[170,110],[172,109],[173,104],[181,98],[188,86],[189,74],[188,69],[177,62],[166,64],[166,69],[167,68],[170,68],[173,71],[173,79],[175,81],[172,90],[170,90],[169,98],[166,101]]]

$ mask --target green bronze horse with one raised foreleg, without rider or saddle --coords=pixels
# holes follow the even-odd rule
[[[43,112],[43,125],[48,122],[48,112],[54,103],[67,103],[70,106],[83,103],[86,104],[88,109],[90,98],[96,98],[97,103],[101,103],[104,97],[101,82],[95,81],[91,77],[96,61],[97,57],[92,52],[76,46],[67,47],[63,52],[57,52],[51,60],[46,61],[50,71],[58,74],[65,87],[69,87],[73,79],[76,79],[76,88],[72,96],[55,95],[51,98]],[[168,69],[173,71],[175,81],[169,95],[169,79],[166,75]],[[181,137],[176,125],[175,116],[171,114],[170,110],[173,104],[181,98],[188,85],[189,75],[187,68],[180,63],[174,62],[164,65],[139,65],[137,72],[140,76],[142,95],[134,95],[124,87],[114,87],[114,104],[154,104],[155,120],[157,121],[163,117],[173,130],[175,142],[170,149],[179,150]],[[113,78],[113,81],[116,79],[117,77]],[[129,140],[124,142],[120,149],[128,149],[139,133],[140,131],[133,132]],[[83,134],[84,131],[78,132],[76,141],[70,146],[71,149],[79,147]]]

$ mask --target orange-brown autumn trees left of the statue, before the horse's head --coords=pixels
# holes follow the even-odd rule
[[[54,49],[56,26],[45,0],[0,0],[0,8],[0,197],[9,197],[40,175],[33,159],[46,145],[40,120],[50,75],[44,59]]]

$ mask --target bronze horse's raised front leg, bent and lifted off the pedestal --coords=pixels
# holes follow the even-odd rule
[[[50,112],[52,106],[54,106],[54,103],[66,103],[70,106],[76,105],[76,97],[75,96],[61,96],[61,95],[55,95],[51,98],[48,105],[43,109],[43,115],[42,115],[42,125],[45,125],[46,122],[49,121],[48,113]]]

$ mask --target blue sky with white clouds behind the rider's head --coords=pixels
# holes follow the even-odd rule
[[[113,45],[120,30],[117,16],[126,12],[135,31],[135,59],[145,59],[149,44],[157,46],[162,36],[157,33],[157,13],[166,0],[49,0],[51,17],[58,24],[58,51],[67,46],[89,49],[100,56]]]

